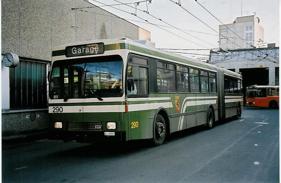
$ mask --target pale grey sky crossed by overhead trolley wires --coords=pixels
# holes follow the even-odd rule
[[[91,1],[91,0],[89,0]],[[98,0],[97,0],[98,1]],[[122,3],[138,2],[142,0],[118,0]],[[179,2],[178,0],[173,0],[174,2]],[[114,0],[102,0],[99,1],[107,5],[120,4]],[[219,25],[221,23],[211,16],[203,7],[201,7],[195,0],[180,0],[181,6],[196,16],[198,19],[206,23],[208,26],[212,27],[217,32],[213,31],[211,28],[200,22],[194,16],[190,15],[187,11],[176,5],[170,0],[152,0],[152,3],[148,4],[148,11],[150,15],[153,15],[161,20],[175,26],[179,29],[184,29],[188,34],[179,31],[174,28],[162,27],[176,35],[180,35],[180,38],[173,35],[167,31],[164,31],[156,26],[147,23],[141,23],[137,21],[142,21],[140,18],[131,15],[126,12],[114,9],[112,7],[101,7],[121,18],[136,20],[130,21],[131,23],[144,28],[151,32],[151,41],[156,43],[156,48],[181,48],[181,49],[211,49],[218,47],[218,33]],[[198,2],[204,6],[208,11],[210,11],[215,17],[217,17],[224,24],[229,24],[234,21],[236,17],[241,16],[241,0],[198,0]],[[103,4],[92,1],[96,6],[101,6]],[[134,4],[129,4],[135,7]],[[136,9],[128,7],[126,5],[114,6],[118,9],[124,11],[135,13]],[[147,11],[146,3],[141,2],[138,9]],[[242,16],[254,15],[260,19],[260,25],[264,28],[264,43],[276,43],[279,46],[279,0],[265,1],[265,0],[242,0]],[[138,11],[136,15],[149,21],[150,23],[169,26],[164,22],[153,18],[152,16],[146,14],[145,12]],[[188,30],[188,31],[187,31]],[[199,31],[208,34],[202,34]],[[210,35],[214,34],[214,35]],[[205,42],[198,40],[191,35],[204,40]],[[195,42],[198,45],[190,42]],[[206,43],[207,42],[207,43]],[[182,51],[183,52],[183,51]],[[196,54],[209,54],[209,50],[201,51],[185,51],[186,53],[196,53]],[[181,54],[190,58],[201,58],[207,57],[205,55],[191,55],[191,54]]]

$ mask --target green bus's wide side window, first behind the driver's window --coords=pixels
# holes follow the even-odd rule
[[[175,65],[158,61],[157,66],[157,90],[160,92],[175,92]],[[174,70],[162,68],[164,66],[174,68]]]

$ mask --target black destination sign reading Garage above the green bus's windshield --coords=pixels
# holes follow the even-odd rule
[[[94,43],[87,45],[67,46],[65,48],[66,57],[78,57],[86,55],[96,55],[104,53],[104,43]]]

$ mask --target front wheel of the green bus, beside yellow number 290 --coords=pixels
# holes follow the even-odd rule
[[[164,142],[166,136],[166,123],[161,115],[156,116],[154,126],[154,138],[153,144],[156,146],[161,145]]]

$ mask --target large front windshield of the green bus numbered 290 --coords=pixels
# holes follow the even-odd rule
[[[50,99],[122,96],[122,64],[119,55],[55,61]]]

